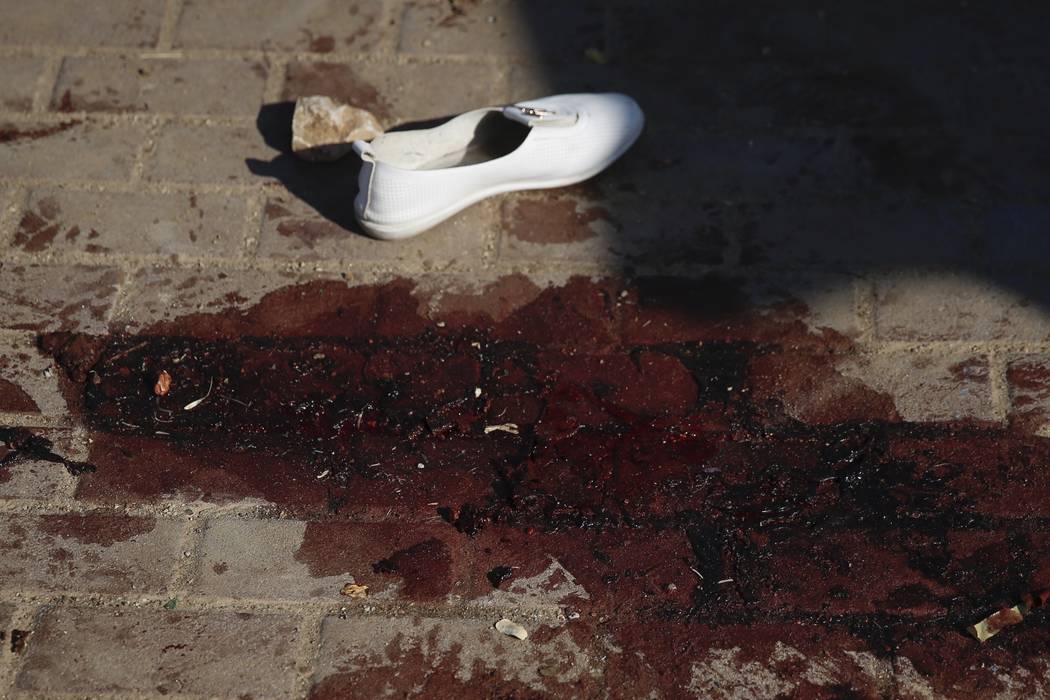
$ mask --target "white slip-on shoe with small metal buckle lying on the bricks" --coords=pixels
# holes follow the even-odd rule
[[[626,94],[556,94],[357,141],[354,210],[376,238],[407,238],[494,194],[587,179],[623,155],[644,124]]]

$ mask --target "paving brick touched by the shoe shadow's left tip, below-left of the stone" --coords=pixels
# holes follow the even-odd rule
[[[156,139],[146,176],[184,183],[257,184],[262,179],[246,160],[267,163],[277,153],[255,128],[171,124]],[[284,171],[272,173],[278,178],[281,174]]]

